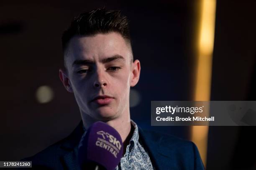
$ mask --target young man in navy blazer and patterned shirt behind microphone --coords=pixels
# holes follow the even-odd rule
[[[59,77],[74,93],[82,122],[69,137],[27,158],[33,167],[79,169],[79,141],[92,123],[103,121],[124,143],[117,170],[204,169],[195,144],[141,130],[130,119],[130,87],[137,84],[141,65],[133,61],[125,16],[105,9],[83,13],[64,32],[62,45],[65,67]]]

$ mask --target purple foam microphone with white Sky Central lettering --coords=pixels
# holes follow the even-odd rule
[[[114,170],[123,155],[119,133],[104,122],[95,122],[80,140],[78,160],[82,170]]]

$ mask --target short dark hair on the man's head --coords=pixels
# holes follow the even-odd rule
[[[118,32],[128,45],[131,46],[129,22],[120,10],[106,10],[98,8],[90,12],[82,13],[74,18],[70,27],[62,35],[62,49],[68,47],[69,41],[75,35],[95,35],[97,33]]]

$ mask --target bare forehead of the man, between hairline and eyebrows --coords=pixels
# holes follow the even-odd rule
[[[130,49],[123,37],[115,32],[96,34],[93,36],[75,36],[70,40],[67,61],[71,64],[75,60],[104,60],[108,57],[121,56],[128,60]]]

